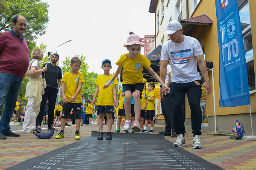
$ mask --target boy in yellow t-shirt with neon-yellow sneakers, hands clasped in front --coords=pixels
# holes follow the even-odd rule
[[[55,136],[56,139],[64,138],[64,129],[68,115],[73,108],[73,113],[76,123],[75,139],[80,139],[80,122],[81,122],[81,104],[82,104],[82,83],[85,82],[84,75],[79,72],[82,61],[78,57],[71,58],[70,66],[71,71],[64,74],[62,79],[62,116],[61,116],[61,130],[60,133]],[[66,90],[66,93],[65,93]]]

